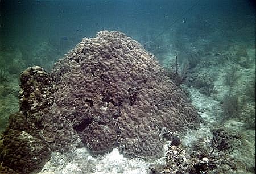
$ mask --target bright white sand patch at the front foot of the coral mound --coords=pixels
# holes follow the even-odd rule
[[[166,145],[167,147],[167,145]],[[52,158],[45,165],[40,174],[105,174],[105,173],[131,173],[143,174],[147,173],[147,168],[153,163],[163,163],[164,158],[157,161],[145,161],[143,159],[125,158],[119,153],[117,148],[104,156],[94,158],[89,154],[86,148],[79,148],[72,154],[52,153]]]

